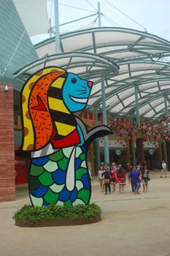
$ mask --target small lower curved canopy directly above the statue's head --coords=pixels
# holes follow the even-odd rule
[[[114,61],[91,53],[60,53],[57,55],[46,54],[43,58],[28,64],[18,72],[14,73],[14,79],[20,78],[23,82],[34,72],[43,67],[56,66],[66,69],[67,72],[73,72],[85,79],[98,79],[98,74],[104,77],[115,75],[119,66]]]

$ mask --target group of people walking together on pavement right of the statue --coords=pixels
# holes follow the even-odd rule
[[[105,195],[109,192],[116,191],[116,184],[118,184],[118,192],[125,192],[126,180],[131,184],[131,191],[135,195],[139,195],[139,189],[143,187],[143,191],[148,191],[148,183],[150,181],[150,171],[147,170],[147,165],[136,165],[130,167],[128,178],[125,173],[125,169],[122,165],[116,165],[115,162],[112,162],[112,165],[101,165],[100,170],[98,170],[98,180],[101,187],[101,192],[105,192]]]

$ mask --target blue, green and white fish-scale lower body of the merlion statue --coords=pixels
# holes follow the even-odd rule
[[[29,193],[33,206],[75,206],[89,203],[91,188],[85,148],[76,147],[74,188],[69,191],[66,187],[72,148],[62,148],[49,156],[31,159]]]

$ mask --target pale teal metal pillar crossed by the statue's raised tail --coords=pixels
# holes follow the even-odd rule
[[[101,98],[102,98],[103,123],[107,125],[107,108],[106,108],[104,78],[101,78]],[[104,162],[105,164],[109,163],[109,140],[107,136],[104,136]]]

